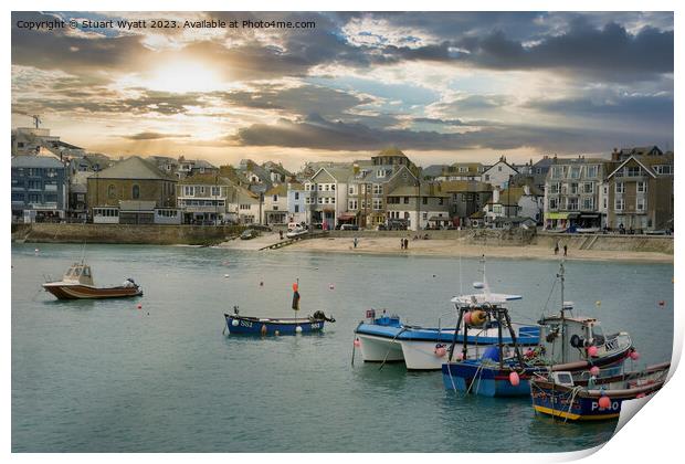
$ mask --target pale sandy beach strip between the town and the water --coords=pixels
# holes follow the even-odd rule
[[[508,257],[517,260],[558,260],[554,251],[546,246],[483,246],[463,243],[460,240],[410,240],[409,249],[400,249],[399,238],[372,238],[358,239],[357,247],[354,247],[352,239],[313,239],[303,240],[289,246],[281,249],[283,252],[306,251],[326,253],[368,253],[368,254],[398,254],[417,256],[464,256],[478,257],[485,254],[489,257]],[[270,251],[271,253],[278,253]],[[626,261],[673,263],[673,255],[656,252],[624,252],[603,250],[568,250],[567,260],[583,261]]]

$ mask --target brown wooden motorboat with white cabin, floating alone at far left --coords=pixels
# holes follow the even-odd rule
[[[91,266],[83,262],[72,264],[62,281],[46,282],[43,288],[57,299],[103,299],[143,295],[143,289],[133,278],[127,278],[124,285],[116,287],[96,287]]]

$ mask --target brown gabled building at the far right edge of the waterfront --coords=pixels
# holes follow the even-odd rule
[[[607,176],[607,226],[644,232],[673,228],[673,156],[630,156]]]

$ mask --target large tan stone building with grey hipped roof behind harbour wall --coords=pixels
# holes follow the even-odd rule
[[[152,161],[133,156],[95,172],[87,182],[93,222],[151,224],[166,223],[167,219],[180,222],[180,212],[176,210],[178,180],[159,170]],[[157,210],[166,212],[157,213]]]

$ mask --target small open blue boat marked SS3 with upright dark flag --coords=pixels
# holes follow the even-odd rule
[[[293,284],[292,309],[295,316],[299,310],[299,281]],[[324,312],[317,310],[307,317],[255,317],[242,316],[238,306],[233,306],[232,314],[224,314],[225,328],[230,334],[240,335],[297,335],[318,333],[324,329],[325,323],[335,323],[334,317],[328,317]]]

